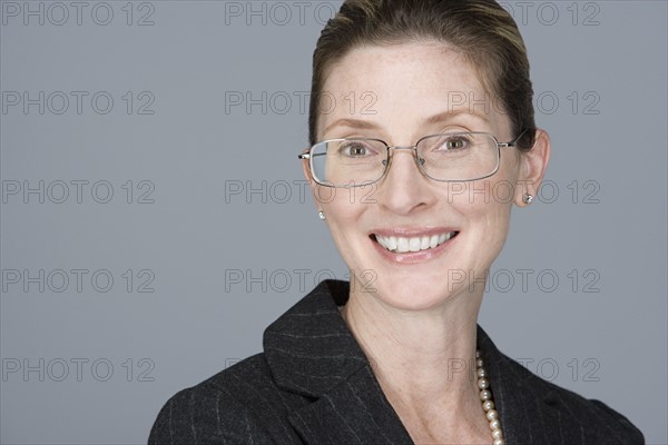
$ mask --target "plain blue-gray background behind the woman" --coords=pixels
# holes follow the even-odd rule
[[[2,444],[146,442],[170,395],[345,278],[295,156],[338,4],[1,2]],[[480,323],[666,444],[667,3],[504,6],[553,151]]]

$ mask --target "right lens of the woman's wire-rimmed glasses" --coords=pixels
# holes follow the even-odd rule
[[[432,179],[464,181],[490,176],[499,168],[497,140],[487,134],[429,136],[418,142],[422,170]]]

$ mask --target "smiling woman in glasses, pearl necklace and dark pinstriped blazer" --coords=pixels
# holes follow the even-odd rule
[[[550,156],[499,4],[346,1],[315,50],[310,138],[304,171],[350,285],[322,283],[264,353],[174,396],[151,444],[644,443],[477,325],[511,208]]]

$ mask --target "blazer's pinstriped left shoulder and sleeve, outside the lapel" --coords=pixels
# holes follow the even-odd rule
[[[273,429],[285,431],[282,405],[264,354],[257,354],[169,398],[148,443],[274,443]]]

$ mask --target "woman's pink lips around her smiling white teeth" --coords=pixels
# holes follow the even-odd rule
[[[403,254],[390,251],[386,248],[384,248],[383,246],[381,246],[379,244],[379,241],[373,239],[373,235],[380,235],[383,237],[395,236],[395,237],[411,238],[411,237],[423,237],[423,236],[431,237],[433,235],[441,235],[441,234],[446,234],[446,233],[451,233],[451,231],[456,231],[458,234],[454,237],[446,240],[445,243],[443,243],[432,249],[420,250],[420,251],[407,251],[407,253],[403,253]],[[449,250],[450,247],[452,246],[452,244],[455,243],[456,239],[459,238],[460,233],[461,231],[458,229],[443,228],[443,227],[438,227],[438,228],[401,228],[400,227],[400,228],[392,228],[392,229],[374,230],[369,234],[369,240],[370,240],[370,243],[373,244],[376,251],[383,258],[387,259],[391,263],[402,264],[402,265],[420,264],[420,263],[424,263],[424,261],[434,259],[434,258],[441,256],[446,250]]]

